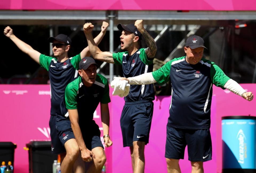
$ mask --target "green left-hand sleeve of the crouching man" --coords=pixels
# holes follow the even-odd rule
[[[65,104],[67,109],[77,109],[77,90],[69,83],[65,89]]]

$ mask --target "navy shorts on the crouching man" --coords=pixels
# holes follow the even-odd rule
[[[95,123],[94,120],[89,123],[90,125],[84,125],[85,129],[81,128],[83,140],[85,142],[86,148],[91,150],[95,147],[102,147],[101,142],[101,131],[99,130],[99,126]],[[56,121],[56,129],[58,131],[59,140],[62,143],[62,146],[64,146],[65,142],[69,139],[74,138],[74,133],[71,128],[71,122],[69,119],[66,118],[58,118]],[[89,130],[89,131],[88,131]]]

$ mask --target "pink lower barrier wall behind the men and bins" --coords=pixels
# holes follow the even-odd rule
[[[248,91],[256,93],[256,84],[241,84]],[[30,140],[50,140],[50,88],[49,85],[0,85],[0,105],[2,110],[1,141],[17,144],[15,149],[15,172],[28,172],[28,152],[23,149]],[[241,97],[214,86],[211,107],[211,136],[213,141],[213,160],[204,163],[205,172],[221,172],[221,117],[229,115],[256,115],[255,100],[247,102]],[[124,101],[118,96],[111,97],[110,136],[113,146],[106,149],[107,172],[131,172],[129,148],[122,147],[120,115]],[[167,172],[164,158],[166,123],[169,116],[169,96],[159,96],[154,101],[154,115],[149,144],[145,148],[145,172]],[[102,127],[100,109],[94,119]],[[190,172],[190,163],[180,161],[183,172]]]

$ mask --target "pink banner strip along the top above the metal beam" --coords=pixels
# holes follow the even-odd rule
[[[253,11],[254,0],[10,0],[0,1],[1,10],[191,10],[191,11]]]

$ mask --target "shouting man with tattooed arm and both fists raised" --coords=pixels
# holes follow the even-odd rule
[[[110,53],[99,50],[91,31],[91,23],[84,25],[89,50],[97,60],[121,65],[124,77],[132,77],[143,73],[152,72],[153,58],[157,51],[154,39],[145,30],[142,20],[134,24],[118,24],[122,31],[120,36],[122,52]],[[147,48],[140,48],[141,36],[145,38]],[[149,132],[153,115],[153,100],[155,99],[154,87],[151,85],[133,85],[130,93],[125,97],[120,124],[123,135],[123,146],[130,147],[133,172],[144,172],[144,148],[149,142]]]

